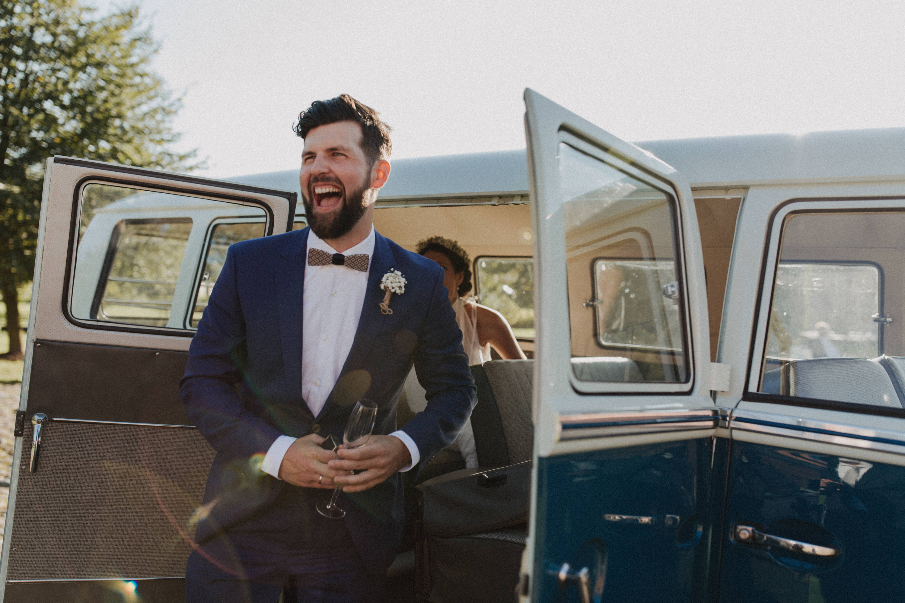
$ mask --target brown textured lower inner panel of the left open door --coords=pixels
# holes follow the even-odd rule
[[[214,460],[197,429],[54,419],[39,451],[18,467],[7,580],[185,575]]]

